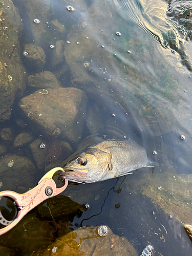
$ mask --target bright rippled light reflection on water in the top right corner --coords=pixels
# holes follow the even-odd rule
[[[191,71],[186,41],[191,40],[191,1],[114,1],[122,17],[133,20],[165,49],[180,55]],[[186,40],[186,41],[185,41]]]

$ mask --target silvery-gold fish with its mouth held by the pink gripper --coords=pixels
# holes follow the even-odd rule
[[[77,153],[62,167],[65,172],[60,177],[77,183],[93,183],[156,166],[159,164],[147,157],[145,148],[131,138],[104,140]]]

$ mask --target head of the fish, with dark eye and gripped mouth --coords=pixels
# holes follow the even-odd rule
[[[102,166],[96,156],[89,153],[81,153],[69,161],[63,169],[65,173],[61,178],[78,183],[91,183],[98,179],[102,173]]]

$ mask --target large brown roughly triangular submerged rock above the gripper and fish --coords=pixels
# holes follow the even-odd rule
[[[49,135],[78,141],[86,118],[86,94],[76,88],[39,90],[20,101],[25,114]],[[41,114],[41,115],[39,115]]]

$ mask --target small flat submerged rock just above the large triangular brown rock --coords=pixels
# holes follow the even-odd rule
[[[36,87],[39,89],[52,88],[56,89],[61,87],[60,82],[56,76],[50,71],[44,71],[28,77],[28,86]]]

